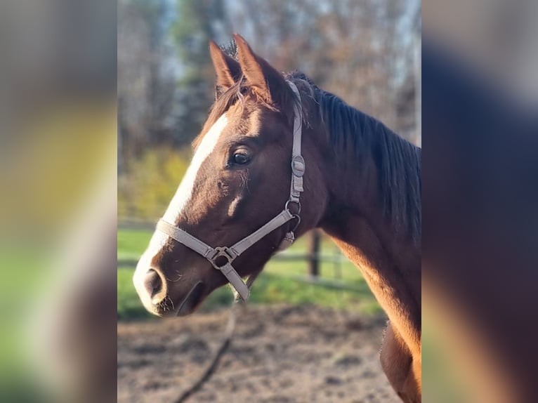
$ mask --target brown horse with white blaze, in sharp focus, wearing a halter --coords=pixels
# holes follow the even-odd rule
[[[234,40],[235,57],[209,44],[216,100],[136,267],[140,300],[174,317],[227,283],[247,299],[275,251],[319,227],[388,316],[388,381],[403,402],[420,402],[420,148]]]

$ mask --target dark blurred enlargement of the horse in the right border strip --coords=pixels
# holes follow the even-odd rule
[[[451,352],[466,401],[536,402],[536,104],[506,86],[510,70],[499,77],[430,38],[423,32],[423,308],[436,317],[423,326],[447,333],[424,354]],[[442,371],[425,363],[424,396],[436,399],[428,379]]]

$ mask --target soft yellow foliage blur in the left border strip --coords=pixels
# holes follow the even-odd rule
[[[0,239],[41,244],[62,230],[93,194],[96,172],[114,169],[116,112],[110,97],[70,98],[20,124],[11,147],[0,146]]]

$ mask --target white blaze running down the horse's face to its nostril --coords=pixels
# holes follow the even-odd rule
[[[166,209],[166,212],[164,213],[164,220],[173,225],[176,224],[176,220],[179,218],[181,212],[185,209],[185,206],[187,206],[192,197],[192,189],[194,188],[200,166],[202,166],[206,158],[209,157],[209,154],[213,152],[215,145],[218,142],[218,138],[220,138],[227,124],[228,118],[226,117],[226,114],[223,114],[218,118],[215,124],[211,126],[211,129],[206,133],[204,138],[202,138],[202,142],[198,145],[195,155],[190,162],[190,166],[188,167],[187,172],[185,172],[185,176],[183,176],[183,180],[181,180],[178,190],[176,190],[176,194],[174,194],[168,209]],[[160,231],[155,231],[150,240],[150,245],[147,246],[146,251],[138,261],[138,265],[136,265],[133,283],[135,284],[138,295],[142,298],[143,303],[146,303],[146,301],[149,303],[149,296],[146,296],[146,293],[143,290],[145,274],[147,270],[150,269],[152,258],[168,243],[168,240],[168,235],[163,234]]]

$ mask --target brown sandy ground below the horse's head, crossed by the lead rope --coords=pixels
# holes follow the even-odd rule
[[[118,324],[118,402],[173,402],[221,345],[228,312]],[[310,306],[249,306],[189,402],[400,403],[379,364],[385,320]]]

